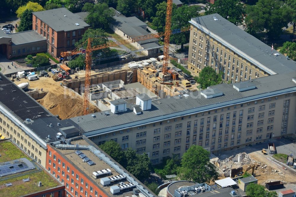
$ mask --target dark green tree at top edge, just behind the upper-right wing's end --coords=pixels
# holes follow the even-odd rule
[[[206,7],[205,14],[220,14],[235,25],[243,22],[244,7],[239,0],[217,0],[210,7]]]

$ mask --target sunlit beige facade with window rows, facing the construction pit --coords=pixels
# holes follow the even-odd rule
[[[191,25],[188,51],[188,69],[199,75],[205,66],[210,66],[222,74],[222,80],[228,83],[246,81],[268,76],[252,62],[247,61],[235,51],[228,49],[201,29]]]

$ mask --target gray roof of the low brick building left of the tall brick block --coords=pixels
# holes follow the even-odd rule
[[[35,30],[12,33],[9,34],[9,37],[11,37],[12,45],[46,40],[46,38],[37,33]]]

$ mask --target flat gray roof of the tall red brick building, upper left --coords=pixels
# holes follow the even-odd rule
[[[71,31],[89,27],[89,25],[84,22],[80,16],[70,12],[66,8],[32,12],[32,14],[55,31]],[[76,23],[79,25],[75,25]]]

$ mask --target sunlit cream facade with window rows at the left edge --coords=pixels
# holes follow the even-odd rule
[[[33,139],[32,135],[28,134],[28,131],[16,125],[11,117],[0,111],[0,134],[6,139],[10,138],[17,147],[45,167],[46,148],[41,146],[41,143],[36,139]]]

